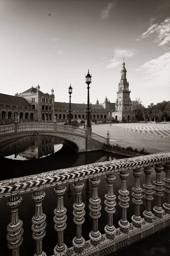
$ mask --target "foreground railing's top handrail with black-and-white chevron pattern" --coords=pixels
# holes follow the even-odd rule
[[[67,169],[59,169],[25,177],[0,181],[0,198],[23,194],[31,190],[45,189],[59,184],[75,182],[91,177],[110,174],[124,169],[132,170],[144,166],[154,166],[170,161],[170,153],[150,154],[146,156],[125,158],[102,163],[88,164]]]

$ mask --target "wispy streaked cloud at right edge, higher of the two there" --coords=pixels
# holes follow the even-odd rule
[[[158,43],[159,46],[170,44],[170,17],[167,17],[160,24],[155,23],[150,26],[136,41],[146,38],[151,34],[156,35],[154,42]]]

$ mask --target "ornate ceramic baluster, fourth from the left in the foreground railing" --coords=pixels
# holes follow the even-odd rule
[[[76,236],[73,239],[74,250],[81,253],[84,249],[85,239],[82,237],[82,224],[85,222],[85,204],[82,203],[82,189],[84,183],[82,181],[74,182],[74,190],[76,192],[76,202],[73,205],[74,223],[76,224]]]

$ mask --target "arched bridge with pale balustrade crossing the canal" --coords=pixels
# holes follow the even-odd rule
[[[89,129],[81,129],[68,125],[58,125],[57,123],[14,123],[0,126],[0,143],[14,138],[31,135],[51,135],[60,137],[65,144],[75,148],[78,152],[100,150],[104,144],[109,143],[98,134],[94,134]]]

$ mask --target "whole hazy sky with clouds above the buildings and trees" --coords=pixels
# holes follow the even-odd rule
[[[51,15],[49,15],[51,14]],[[49,15],[49,16],[48,16]],[[32,85],[55,101],[116,101],[123,57],[131,100],[170,100],[169,0],[0,0],[0,92]]]

